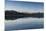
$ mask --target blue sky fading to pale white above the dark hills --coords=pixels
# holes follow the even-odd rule
[[[24,1],[7,1],[5,2],[6,10],[15,10],[18,12],[37,13],[44,12],[43,2],[24,2]]]

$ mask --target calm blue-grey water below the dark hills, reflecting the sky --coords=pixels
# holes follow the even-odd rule
[[[43,28],[43,18],[20,18],[16,20],[6,20],[5,30],[39,29]]]

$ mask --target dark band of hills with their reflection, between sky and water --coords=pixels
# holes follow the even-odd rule
[[[14,19],[24,18],[24,17],[43,18],[44,13],[20,13],[20,12],[13,11],[13,10],[5,11],[6,20],[14,20]]]

